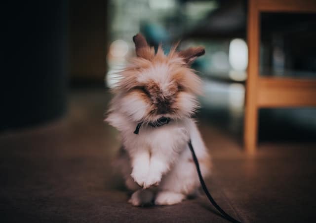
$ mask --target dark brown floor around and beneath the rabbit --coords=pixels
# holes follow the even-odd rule
[[[227,222],[205,196],[162,207],[127,203],[110,165],[118,132],[102,122],[108,99],[77,91],[64,120],[0,134],[0,222]],[[213,159],[207,185],[227,212],[245,223],[312,222],[316,143],[262,142],[248,157],[235,137],[202,121]]]

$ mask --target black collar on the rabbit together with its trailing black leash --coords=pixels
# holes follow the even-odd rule
[[[149,125],[151,127],[160,127],[160,126],[163,126],[165,124],[168,124],[170,122],[170,118],[165,118],[165,117],[162,117],[160,119],[158,119],[156,122],[153,122],[153,123],[149,123]],[[142,122],[141,123],[138,123],[137,126],[136,126],[136,129],[134,131],[134,134],[138,134],[139,133],[139,129],[140,127],[142,126]],[[192,153],[192,157],[193,157],[193,160],[196,164],[196,167],[197,167],[197,174],[198,174],[198,178],[199,178],[199,182],[202,186],[202,189],[204,191],[204,193],[206,194],[207,198],[209,199],[209,201],[214,205],[214,207],[223,215],[223,217],[232,222],[232,223],[241,223],[239,221],[237,221],[236,219],[234,219],[233,217],[231,217],[229,214],[227,214],[217,203],[216,201],[213,199],[212,195],[210,194],[210,192],[207,190],[207,187],[205,185],[205,182],[204,182],[204,179],[202,177],[202,174],[201,174],[201,170],[199,168],[199,164],[198,164],[198,160],[197,160],[197,156],[196,156],[196,153],[194,152],[194,149],[193,149],[193,146],[192,146],[192,143],[191,143],[191,139],[190,141],[188,142],[188,145],[189,145],[189,148],[191,150],[191,153]]]

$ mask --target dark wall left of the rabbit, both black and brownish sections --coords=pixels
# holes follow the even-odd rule
[[[1,9],[0,131],[61,117],[69,80],[103,85],[107,0],[17,0]]]

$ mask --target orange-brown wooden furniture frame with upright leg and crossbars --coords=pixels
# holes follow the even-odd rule
[[[261,77],[259,74],[260,12],[316,12],[315,0],[248,0],[247,42],[249,49],[244,147],[254,153],[257,144],[258,109],[316,106],[316,80]]]

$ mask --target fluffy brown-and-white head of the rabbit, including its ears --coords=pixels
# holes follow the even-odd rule
[[[121,73],[114,92],[116,107],[131,121],[155,122],[161,117],[190,117],[198,107],[201,81],[190,68],[205,53],[202,47],[177,52],[173,47],[165,55],[157,53],[142,34],[133,37],[136,56]]]

